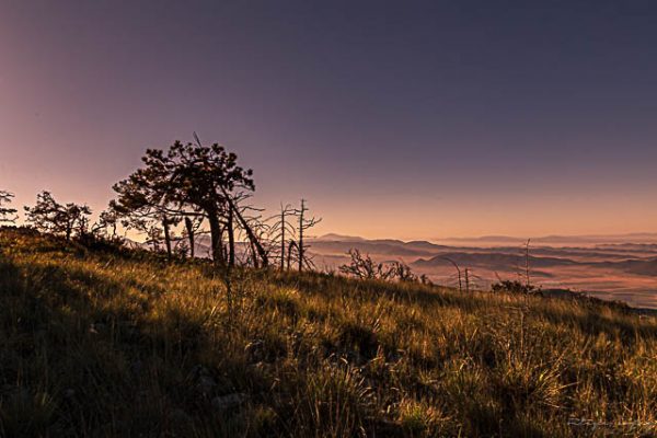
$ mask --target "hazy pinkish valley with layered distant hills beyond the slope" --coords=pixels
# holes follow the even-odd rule
[[[402,261],[437,284],[458,286],[458,274],[469,269],[472,288],[488,289],[499,279],[526,274],[520,239],[491,237],[427,241],[365,240],[327,234],[314,239],[310,251],[319,268],[347,263],[349,249],[377,262]],[[542,289],[572,289],[598,298],[622,300],[634,307],[657,308],[657,235],[550,237],[530,242],[531,281]]]

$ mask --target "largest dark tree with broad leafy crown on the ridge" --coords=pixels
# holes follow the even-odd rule
[[[118,204],[128,210],[148,208],[207,218],[212,258],[221,265],[227,263],[223,233],[228,231],[231,239],[231,229],[237,224],[246,233],[263,265],[267,265],[267,254],[235,200],[235,192],[255,189],[253,172],[240,168],[238,157],[222,146],[205,147],[197,137],[196,140],[196,145],[176,141],[166,152],[147,150],[145,166],[114,186]],[[234,247],[229,252],[230,264],[234,262]]]

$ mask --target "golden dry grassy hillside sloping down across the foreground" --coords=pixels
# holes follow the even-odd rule
[[[4,436],[570,436],[655,420],[657,322],[0,232]],[[227,396],[228,395],[228,396]]]

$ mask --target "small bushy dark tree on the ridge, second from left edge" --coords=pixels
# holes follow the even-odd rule
[[[91,208],[73,203],[61,205],[44,191],[36,196],[34,207],[25,207],[25,212],[27,222],[37,230],[61,234],[70,240],[73,234],[87,233]]]

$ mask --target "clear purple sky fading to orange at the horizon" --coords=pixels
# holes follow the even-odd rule
[[[315,233],[657,232],[657,2],[0,1],[0,188],[219,142]]]

